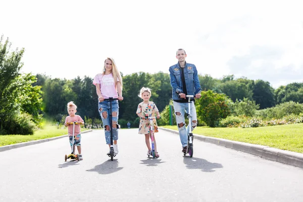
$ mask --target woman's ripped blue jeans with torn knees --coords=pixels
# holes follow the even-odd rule
[[[105,140],[107,144],[111,143],[111,126],[110,126],[110,102],[109,100],[105,100],[103,102],[99,102],[98,104],[98,111],[100,114],[100,117],[102,119],[103,127],[105,130]],[[106,112],[106,118],[103,116],[103,112]],[[119,116],[119,104],[118,100],[112,101],[112,114],[116,112],[117,116],[113,116],[112,122],[117,123],[117,128],[113,128],[113,140],[118,140],[118,116]],[[109,126],[110,130],[106,130],[105,126]]]

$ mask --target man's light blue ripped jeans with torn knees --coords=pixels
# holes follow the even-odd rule
[[[185,112],[188,112],[188,103],[177,103],[173,101],[174,111],[176,116],[176,122],[179,130],[179,136],[181,140],[182,147],[187,146],[187,136],[189,134],[189,128],[185,126]],[[179,112],[180,115],[176,115]],[[197,114],[194,106],[194,102],[190,103],[190,114],[191,114],[191,131],[197,125]],[[193,121],[196,121],[195,123]],[[184,125],[180,128],[178,124],[183,123]]]

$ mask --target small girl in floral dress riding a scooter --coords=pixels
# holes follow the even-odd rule
[[[151,155],[151,148],[150,148],[150,122],[145,117],[155,117],[157,115],[157,119],[160,119],[160,114],[157,106],[154,102],[149,101],[151,96],[151,89],[142,87],[140,93],[138,94],[139,97],[143,99],[143,102],[138,105],[137,108],[137,115],[140,117],[140,124],[139,124],[139,134],[145,135],[145,143],[148,148],[147,155]],[[157,151],[157,143],[155,138],[155,133],[158,131],[158,125],[156,119],[154,119],[154,143],[155,143],[155,157],[159,157]]]

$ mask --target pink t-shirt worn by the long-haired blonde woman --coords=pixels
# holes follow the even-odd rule
[[[117,78],[117,81],[119,79]],[[97,74],[92,82],[94,85],[100,85],[101,94],[104,98],[109,97],[118,97],[117,89],[115,87],[113,73],[105,75],[105,74]]]

